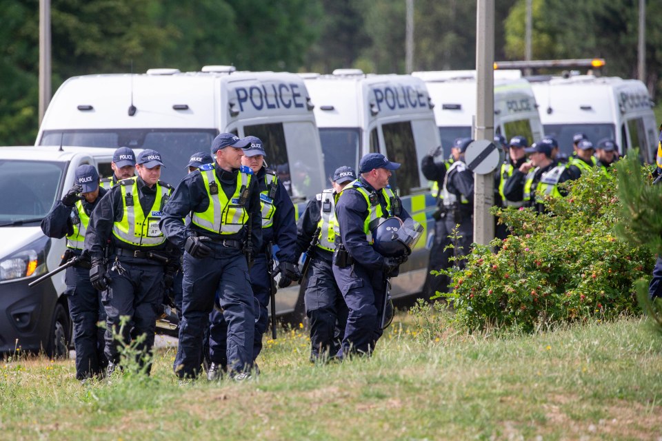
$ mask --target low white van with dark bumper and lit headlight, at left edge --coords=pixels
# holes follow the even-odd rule
[[[34,287],[28,283],[58,267],[66,240],[44,236],[39,224],[74,185],[79,165],[110,174],[114,149],[0,147],[0,354],[68,354],[71,320],[62,296],[65,271]]]

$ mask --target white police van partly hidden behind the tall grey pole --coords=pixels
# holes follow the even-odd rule
[[[428,86],[434,102],[444,156],[457,138],[472,138],[477,110],[476,71],[412,72]],[[529,143],[542,139],[543,125],[528,81],[519,71],[494,72],[494,133],[505,139],[526,136]]]

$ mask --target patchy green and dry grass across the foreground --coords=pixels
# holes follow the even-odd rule
[[[642,320],[432,341],[411,321],[399,316],[371,359],[330,365],[310,365],[290,331],[241,384],[178,385],[173,348],[150,378],[83,386],[72,360],[0,362],[0,438],[661,439],[662,339]]]

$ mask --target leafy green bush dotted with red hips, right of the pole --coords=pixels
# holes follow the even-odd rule
[[[565,198],[545,201],[548,214],[494,209],[514,235],[492,242],[496,254],[475,246],[465,269],[450,271],[454,291],[447,296],[458,325],[533,331],[639,312],[634,281],[651,274],[653,257],[614,236],[613,174],[583,174],[568,188]]]

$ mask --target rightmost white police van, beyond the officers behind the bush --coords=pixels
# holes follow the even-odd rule
[[[563,153],[572,154],[572,135],[581,132],[594,144],[612,138],[620,154],[639,148],[643,161],[655,161],[658,127],[641,81],[592,74],[539,76],[530,81],[545,134],[559,141]]]

